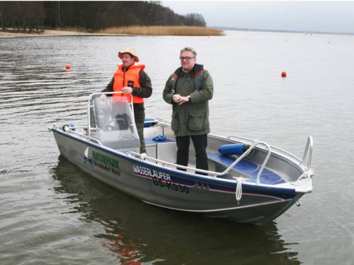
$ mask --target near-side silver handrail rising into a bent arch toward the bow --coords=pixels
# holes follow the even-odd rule
[[[161,165],[171,165],[173,167],[178,167],[178,168],[181,168],[181,169],[184,169],[184,170],[193,170],[193,171],[197,171],[197,172],[200,172],[200,173],[205,173],[205,174],[208,174],[212,177],[219,177],[219,176],[223,176],[223,175],[226,175],[230,170],[232,170],[232,168],[237,164],[239,163],[244,157],[246,157],[246,155],[249,155],[249,153],[251,153],[251,151],[253,150],[253,148],[255,148],[256,146],[258,145],[261,145],[263,144],[267,149],[268,149],[268,153],[265,157],[265,160],[263,161],[262,165],[261,165],[261,168],[260,170],[258,171],[258,175],[257,175],[257,179],[256,179],[256,183],[259,184],[260,183],[260,177],[261,177],[261,174],[264,170],[264,167],[265,165],[268,163],[268,160],[270,158],[270,153],[271,153],[271,150],[270,150],[270,146],[268,145],[268,143],[265,143],[263,141],[256,141],[254,143],[252,143],[252,145],[249,147],[249,149],[247,151],[245,151],[242,155],[239,156],[239,158],[237,158],[231,165],[229,165],[224,171],[222,172],[215,172],[215,171],[210,171],[210,170],[201,170],[199,168],[195,168],[195,167],[188,167],[188,166],[184,166],[184,165],[178,165],[176,163],[169,163],[165,160],[159,160],[157,158],[152,158],[150,156],[143,156],[142,154],[140,153],[136,153],[136,152],[133,152],[133,151],[130,151],[130,152],[127,152],[127,155],[135,155],[139,158],[144,158],[144,159],[147,159],[147,160],[152,160],[156,163],[160,163]]]

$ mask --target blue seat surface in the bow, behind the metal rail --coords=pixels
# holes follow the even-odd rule
[[[221,165],[224,165],[225,167],[229,167],[232,163],[234,163],[235,158],[232,158],[227,155],[222,155],[221,153],[208,153],[207,158],[210,160],[214,161],[215,163],[219,163]],[[258,172],[260,170],[260,166],[257,165],[256,163],[252,163],[246,160],[241,160],[239,163],[234,165],[234,170],[237,170],[244,175],[248,175],[249,179],[246,179],[246,182],[256,182]],[[264,168],[261,177],[260,177],[260,182],[263,184],[280,184],[284,183],[284,179],[280,177],[280,175],[276,174],[273,171],[270,171],[266,168]]]

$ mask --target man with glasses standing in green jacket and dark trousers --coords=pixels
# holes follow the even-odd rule
[[[185,47],[180,53],[181,67],[167,80],[164,100],[172,105],[171,129],[177,143],[177,164],[188,165],[190,138],[195,148],[196,167],[208,170],[207,134],[210,133],[208,101],[212,99],[210,73],[196,64],[197,52]]]

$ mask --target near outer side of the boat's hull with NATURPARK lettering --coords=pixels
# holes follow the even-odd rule
[[[51,129],[60,153],[89,175],[148,204],[178,211],[264,223],[280,216],[304,193],[270,185],[242,184],[236,200],[232,179],[204,177],[100,146],[88,139]]]

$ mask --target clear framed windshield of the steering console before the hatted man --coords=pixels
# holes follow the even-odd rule
[[[132,105],[121,98],[93,95],[89,111],[90,135],[110,148],[139,153],[140,141]]]

